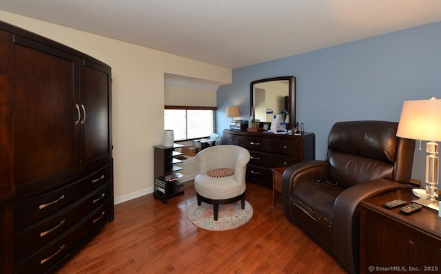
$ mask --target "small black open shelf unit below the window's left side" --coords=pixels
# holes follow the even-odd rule
[[[164,204],[167,200],[184,193],[182,183],[177,179],[183,177],[182,173],[178,173],[182,167],[176,164],[182,162],[175,158],[182,155],[181,152],[174,149],[183,148],[183,145],[174,144],[171,147],[163,145],[154,146],[154,191],[153,196],[160,199]]]

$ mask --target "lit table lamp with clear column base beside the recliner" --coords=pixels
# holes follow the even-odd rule
[[[427,140],[426,183],[428,204],[436,203],[438,172],[440,169],[437,141],[441,141],[441,100],[404,101],[397,136],[414,140]],[[420,147],[421,149],[421,147]]]

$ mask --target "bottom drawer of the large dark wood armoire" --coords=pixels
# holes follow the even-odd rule
[[[16,273],[45,273],[54,266],[54,262],[59,262],[81,244],[83,238],[99,228],[104,222],[110,219],[113,208],[113,199],[107,198],[101,207],[95,209],[83,220],[77,222],[65,234],[54,239],[50,244],[43,246],[36,253],[26,260],[16,264]]]

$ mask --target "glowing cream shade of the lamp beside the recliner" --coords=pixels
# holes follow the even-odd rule
[[[441,100],[404,101],[397,136],[441,141]]]

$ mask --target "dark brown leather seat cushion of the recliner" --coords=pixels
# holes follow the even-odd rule
[[[291,201],[311,218],[322,222],[325,226],[331,226],[334,202],[344,190],[338,185],[304,180],[297,182],[292,188]]]

